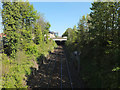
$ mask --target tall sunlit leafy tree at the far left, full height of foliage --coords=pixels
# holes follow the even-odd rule
[[[20,12],[18,2],[3,2],[2,21],[4,25],[4,33],[7,34],[8,47],[4,48],[4,51],[15,57],[17,51],[17,44],[19,41],[19,29],[20,25]]]

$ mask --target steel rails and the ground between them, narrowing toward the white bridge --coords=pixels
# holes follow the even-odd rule
[[[52,87],[56,87],[56,88],[72,88],[72,80],[71,80],[71,75],[70,75],[70,70],[69,70],[69,66],[68,66],[68,62],[67,59],[65,57],[64,51],[63,51],[63,47],[59,46],[59,50],[58,50],[58,54],[57,54],[57,63],[60,65],[54,65],[54,69],[53,69],[53,73],[55,74],[54,76],[58,77],[59,80],[55,80],[53,74],[50,77],[50,82],[48,83],[48,88]],[[58,68],[59,69],[56,69]],[[56,70],[55,70],[56,69]],[[55,70],[55,71],[54,71]],[[59,75],[57,75],[59,73]],[[58,85],[55,85],[55,83],[58,83]],[[54,84],[54,85],[53,85]]]

